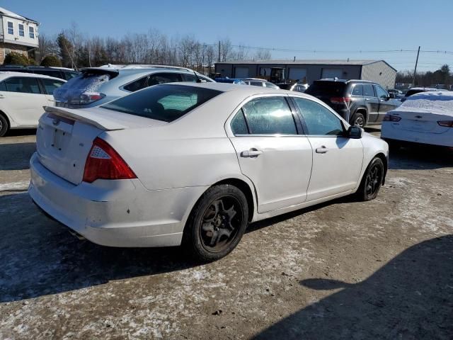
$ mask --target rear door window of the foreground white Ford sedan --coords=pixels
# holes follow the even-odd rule
[[[252,99],[242,111],[251,135],[297,135],[292,112],[284,97]]]

